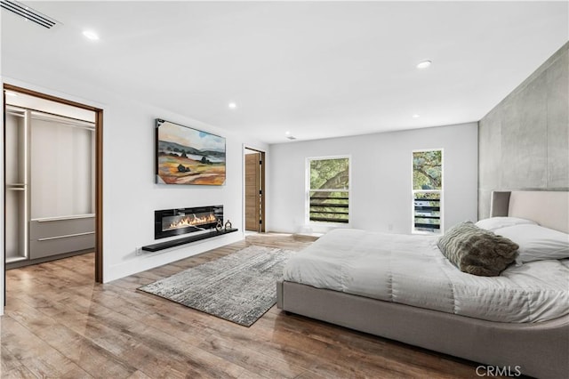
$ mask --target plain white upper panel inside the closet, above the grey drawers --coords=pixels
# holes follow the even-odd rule
[[[32,219],[92,214],[92,139],[84,127],[32,120]]]

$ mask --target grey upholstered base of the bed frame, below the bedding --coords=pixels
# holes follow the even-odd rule
[[[525,375],[569,373],[569,316],[539,324],[472,319],[298,283],[276,284],[279,309]]]

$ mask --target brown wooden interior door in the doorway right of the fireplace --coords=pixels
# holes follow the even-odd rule
[[[261,231],[260,153],[245,154],[245,230]]]

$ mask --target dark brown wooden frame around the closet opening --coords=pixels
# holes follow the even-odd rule
[[[16,85],[4,84],[4,91],[23,93],[40,99],[55,101],[72,107],[95,112],[95,282],[103,282],[103,109],[69,101],[57,96],[38,93]],[[6,102],[4,100],[4,115]],[[4,120],[5,121],[5,120]],[[3,126],[4,129],[4,126]],[[5,165],[5,159],[4,159]],[[3,182],[5,179],[3,178]],[[5,183],[4,183],[5,185]],[[4,205],[5,206],[5,205]],[[5,250],[4,250],[5,260]],[[5,268],[4,268],[5,270]],[[4,273],[5,278],[5,273]],[[4,286],[5,290],[5,286]]]

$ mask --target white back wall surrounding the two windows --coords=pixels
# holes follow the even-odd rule
[[[299,232],[305,227],[307,157],[350,155],[350,226],[410,233],[412,151],[440,148],[444,149],[445,229],[476,221],[477,123],[470,123],[271,145],[268,230]]]

